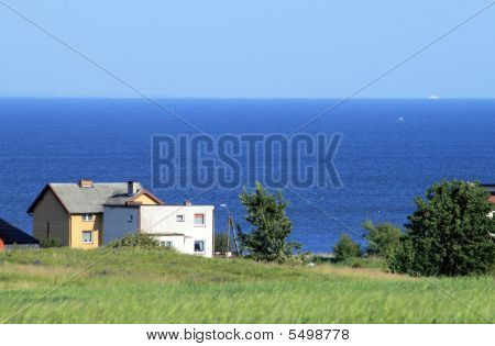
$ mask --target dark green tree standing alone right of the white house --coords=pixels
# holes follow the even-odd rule
[[[250,233],[238,227],[239,241],[243,250],[256,260],[285,261],[300,246],[287,242],[293,224],[285,213],[287,202],[282,192],[277,196],[267,192],[256,182],[256,189],[250,193],[244,188],[240,196],[248,214],[245,220],[254,226]]]

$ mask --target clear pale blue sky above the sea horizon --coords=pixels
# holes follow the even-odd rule
[[[492,1],[28,1],[151,97],[345,97]],[[0,2],[0,94],[138,97]],[[361,93],[494,98],[495,5]]]

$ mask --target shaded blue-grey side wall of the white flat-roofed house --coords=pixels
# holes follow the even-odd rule
[[[103,244],[140,230],[139,208],[107,207],[103,209]],[[132,215],[132,221],[129,217]]]

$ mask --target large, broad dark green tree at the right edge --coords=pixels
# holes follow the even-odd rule
[[[416,200],[407,234],[389,259],[393,271],[425,276],[490,272],[495,261],[495,221],[487,193],[475,183],[443,181]]]

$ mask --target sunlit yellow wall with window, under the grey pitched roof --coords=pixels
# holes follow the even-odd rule
[[[103,214],[94,214],[92,221],[84,221],[82,215],[70,215],[70,247],[90,249],[102,244]],[[92,243],[82,243],[82,231],[92,232]]]

